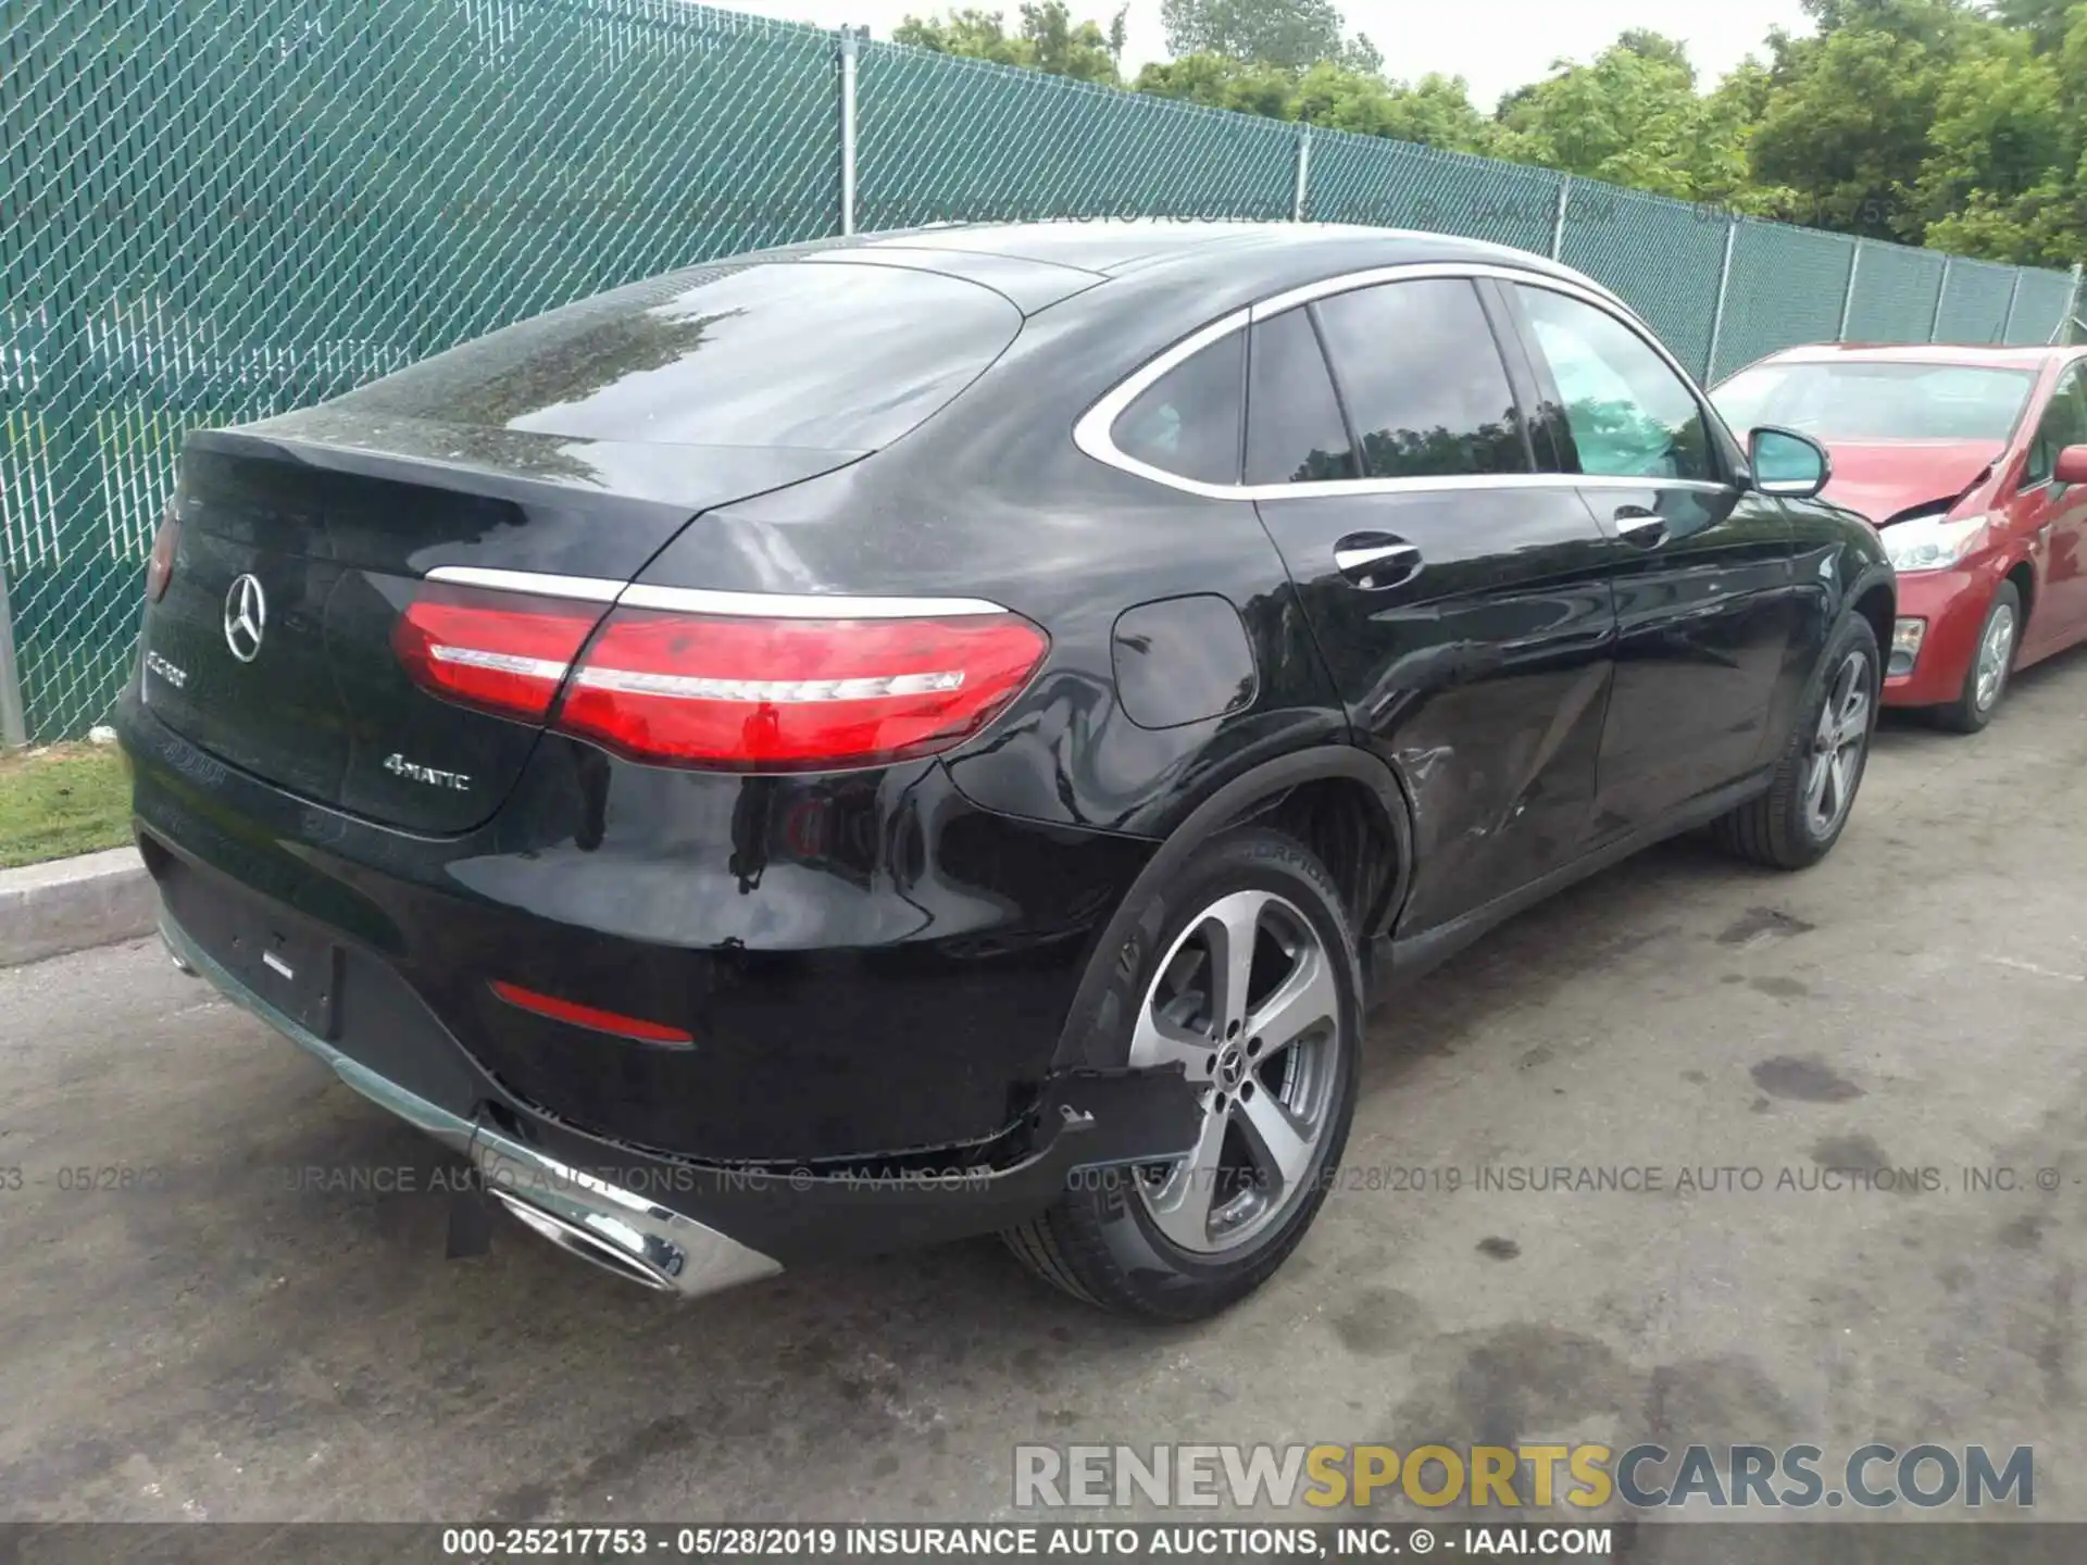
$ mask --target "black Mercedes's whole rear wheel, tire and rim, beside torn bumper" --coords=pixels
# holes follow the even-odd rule
[[[1240,1006],[1223,979],[1244,929],[1254,956]],[[1077,1173],[1004,1237],[1075,1298],[1198,1321],[1284,1265],[1340,1166],[1363,1031],[1357,941],[1325,866],[1292,837],[1246,828],[1198,847],[1123,949],[1094,960],[1121,979],[1092,1022],[1127,1064],[1181,1060],[1204,1083],[1204,1135],[1188,1158]]]

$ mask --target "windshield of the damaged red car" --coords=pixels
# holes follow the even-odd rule
[[[1745,434],[1761,424],[1818,440],[2006,440],[2035,376],[1953,363],[1768,363],[1709,399]]]

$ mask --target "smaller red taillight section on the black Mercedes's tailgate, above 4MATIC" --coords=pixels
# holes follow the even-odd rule
[[[424,582],[392,628],[392,649],[413,682],[445,701],[543,722],[599,618],[599,603]]]

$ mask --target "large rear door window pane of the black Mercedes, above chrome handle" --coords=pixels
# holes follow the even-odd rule
[[[1369,478],[1530,472],[1515,392],[1469,282],[1392,282],[1315,309]]]

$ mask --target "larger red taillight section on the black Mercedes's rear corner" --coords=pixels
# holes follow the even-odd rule
[[[726,770],[868,766],[983,728],[1044,659],[1014,613],[753,620],[616,609],[557,728],[622,755]]]

